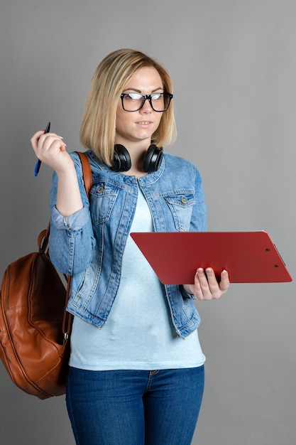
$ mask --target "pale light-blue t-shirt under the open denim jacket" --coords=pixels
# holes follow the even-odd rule
[[[131,232],[151,232],[140,188]],[[205,360],[197,330],[181,338],[172,326],[163,284],[128,237],[116,299],[102,329],[75,316],[70,366],[84,370],[194,368]]]

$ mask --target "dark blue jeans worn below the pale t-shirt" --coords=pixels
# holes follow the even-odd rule
[[[70,368],[67,410],[77,445],[190,445],[204,366],[175,370]]]

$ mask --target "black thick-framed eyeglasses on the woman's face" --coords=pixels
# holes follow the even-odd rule
[[[142,95],[139,92],[123,92],[120,97],[122,108],[125,111],[138,111],[148,100],[154,111],[164,112],[168,109],[173,96],[170,92],[153,92],[152,95]]]

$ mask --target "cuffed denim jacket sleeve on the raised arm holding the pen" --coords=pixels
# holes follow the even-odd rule
[[[82,166],[77,154],[70,155],[77,173],[83,208],[69,217],[57,210],[57,174],[53,173],[50,191],[50,259],[62,274],[73,275],[83,272],[92,262],[94,232],[89,213],[89,200],[85,192]]]

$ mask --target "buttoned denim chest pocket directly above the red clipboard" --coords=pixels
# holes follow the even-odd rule
[[[179,232],[190,230],[192,210],[195,203],[194,193],[184,191],[183,193],[166,195],[164,198],[172,213],[176,229]]]

